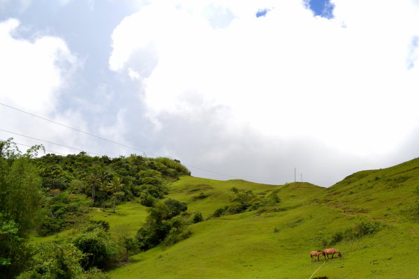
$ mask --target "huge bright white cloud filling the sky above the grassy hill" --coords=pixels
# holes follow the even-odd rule
[[[110,57],[112,70],[132,76],[135,53],[155,50],[158,63],[135,77],[156,119],[223,105],[232,126],[360,155],[391,151],[417,126],[418,67],[406,61],[416,59],[419,13],[410,1],[336,0],[332,20],[298,1],[158,3],[119,24]],[[235,19],[216,29],[207,15],[220,7]]]

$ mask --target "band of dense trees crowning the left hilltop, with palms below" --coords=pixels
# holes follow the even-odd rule
[[[8,156],[13,156],[13,153]],[[110,197],[116,203],[117,199],[131,200],[144,192],[161,199],[168,193],[167,181],[190,174],[178,160],[145,158],[135,154],[118,158],[90,157],[84,152],[68,156],[47,154],[35,158],[34,162],[40,169],[44,188],[71,189],[73,193],[91,197],[95,206],[103,206]],[[121,179],[123,186],[119,191],[112,192],[106,187],[115,177]],[[115,193],[118,193],[116,197]],[[145,204],[153,203],[149,195],[142,195]]]

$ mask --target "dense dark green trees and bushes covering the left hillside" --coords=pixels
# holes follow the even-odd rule
[[[1,278],[108,278],[102,270],[133,253],[189,235],[186,204],[161,201],[168,183],[190,175],[179,160],[41,152],[41,145],[22,153],[13,139],[0,142]],[[91,209],[115,212],[127,201],[149,207],[134,237],[112,236],[109,223],[87,218]],[[30,236],[68,228],[74,232],[64,241],[29,245]]]

